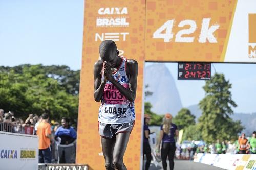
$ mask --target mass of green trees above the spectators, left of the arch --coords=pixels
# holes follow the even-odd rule
[[[67,66],[0,67],[0,107],[25,118],[49,113],[77,119],[79,72]]]

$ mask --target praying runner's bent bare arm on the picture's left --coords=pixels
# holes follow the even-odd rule
[[[106,79],[104,82],[101,82],[101,70],[103,67],[103,62],[102,61],[97,61],[94,64],[94,70],[93,70],[93,75],[94,75],[94,100],[96,102],[99,102],[100,99],[102,98],[104,88],[106,85]]]

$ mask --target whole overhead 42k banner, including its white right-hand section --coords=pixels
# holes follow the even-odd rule
[[[256,62],[256,1],[146,3],[146,61]]]

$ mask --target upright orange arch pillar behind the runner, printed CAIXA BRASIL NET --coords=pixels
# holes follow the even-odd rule
[[[116,42],[120,56],[139,64],[136,123],[124,155],[127,169],[139,169],[141,157],[141,109],[144,64],[145,0],[95,1],[85,4],[82,69],[80,78],[76,163],[88,163],[91,169],[104,169],[104,157],[98,133],[100,103],[94,101],[93,66],[99,58],[103,40]]]

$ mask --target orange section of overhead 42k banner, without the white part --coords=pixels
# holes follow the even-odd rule
[[[146,61],[221,61],[236,1],[146,2]]]

